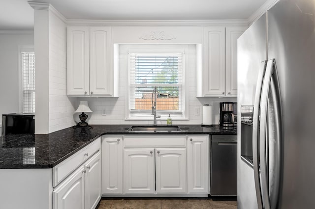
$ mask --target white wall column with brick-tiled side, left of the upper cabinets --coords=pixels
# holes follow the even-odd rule
[[[72,103],[66,96],[65,18],[50,4],[34,8],[35,133],[51,133],[74,125]],[[71,102],[72,101],[72,102]]]

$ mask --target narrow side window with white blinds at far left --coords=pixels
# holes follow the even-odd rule
[[[23,113],[35,112],[35,55],[34,52],[21,52]]]

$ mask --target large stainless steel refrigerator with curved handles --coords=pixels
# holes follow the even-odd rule
[[[315,1],[280,0],[238,39],[238,208],[315,208]]]

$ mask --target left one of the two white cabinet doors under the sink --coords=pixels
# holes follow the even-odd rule
[[[154,193],[154,149],[125,149],[125,193]]]

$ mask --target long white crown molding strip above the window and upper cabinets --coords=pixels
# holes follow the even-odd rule
[[[67,20],[69,26],[248,26],[247,20]]]

